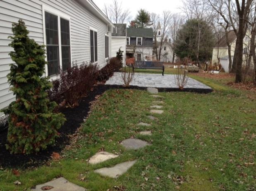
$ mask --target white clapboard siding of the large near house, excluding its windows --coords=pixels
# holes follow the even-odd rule
[[[105,34],[107,24],[96,17],[76,0],[1,0],[0,1],[0,109],[14,101],[9,91],[6,75],[10,72],[9,64],[13,63],[8,53],[12,48],[7,37],[12,35],[12,22],[23,19],[29,37],[43,44],[42,5],[56,9],[70,17],[72,61],[81,64],[90,61],[89,27],[98,31],[98,64],[103,67],[105,59]],[[109,49],[111,50],[111,33],[109,33]]]

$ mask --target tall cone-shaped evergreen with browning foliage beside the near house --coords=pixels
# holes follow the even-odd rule
[[[10,64],[7,78],[16,101],[3,110],[9,124],[6,147],[11,153],[29,154],[55,142],[65,117],[54,112],[57,104],[49,101],[46,93],[52,84],[42,77],[47,64],[45,47],[28,37],[29,31],[22,20],[12,24],[12,32],[9,46],[14,51],[9,55],[15,64]]]

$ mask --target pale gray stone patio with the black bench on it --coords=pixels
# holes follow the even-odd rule
[[[121,73],[115,72],[114,75],[106,82],[106,85],[123,85],[123,79]],[[175,84],[174,75],[165,74],[148,74],[148,73],[135,73],[133,81],[130,83],[131,86],[138,87],[157,87],[157,88],[171,88],[178,89]],[[207,85],[198,82],[192,78],[188,78],[188,83],[184,87],[186,89],[205,89],[212,90]]]

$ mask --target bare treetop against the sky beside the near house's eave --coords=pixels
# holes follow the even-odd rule
[[[113,0],[112,4],[104,4],[103,12],[115,24],[128,23],[132,18],[129,9],[122,8],[122,2]]]

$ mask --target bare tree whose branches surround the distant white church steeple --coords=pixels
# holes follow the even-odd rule
[[[170,29],[170,22],[171,22],[171,12],[169,11],[163,11],[161,15],[157,15],[155,13],[151,14],[151,19],[152,19],[152,28],[154,32],[154,40],[155,40],[155,45],[154,45],[154,52],[157,56],[157,60],[161,59],[161,53],[162,49],[164,47],[164,40],[167,37],[167,34],[169,33]],[[157,42],[157,32],[158,32],[158,26],[161,26],[161,37],[160,41]],[[158,45],[159,43],[159,45]]]

